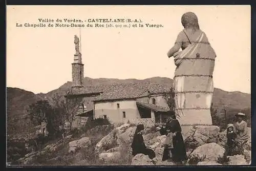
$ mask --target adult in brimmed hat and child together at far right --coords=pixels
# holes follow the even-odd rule
[[[227,142],[225,146],[225,154],[227,156],[243,154],[249,139],[247,123],[244,121],[245,114],[238,113],[236,117],[236,123],[227,125]]]

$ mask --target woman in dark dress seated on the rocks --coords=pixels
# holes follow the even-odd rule
[[[153,159],[154,157],[156,157],[155,152],[152,149],[146,147],[141,133],[142,130],[144,130],[144,125],[138,124],[132,142],[133,156],[141,153],[144,155],[148,155],[150,159]]]

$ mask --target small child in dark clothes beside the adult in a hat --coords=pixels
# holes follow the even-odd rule
[[[234,125],[228,124],[227,125],[227,143],[225,147],[225,154],[227,156],[233,156],[234,155],[234,149],[236,145],[236,133],[234,132]]]

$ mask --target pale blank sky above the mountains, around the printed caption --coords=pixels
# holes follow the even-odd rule
[[[74,35],[79,28],[26,28],[38,18],[131,18],[164,28],[82,28],[84,76],[91,78],[173,78],[166,53],[195,12],[217,54],[214,85],[250,93],[250,6],[7,6],[7,87],[47,93],[72,80]],[[88,23],[84,23],[88,24]]]

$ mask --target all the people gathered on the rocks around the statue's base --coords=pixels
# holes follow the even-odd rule
[[[245,114],[238,113],[236,116],[237,122],[227,125],[227,142],[225,146],[225,154],[227,156],[243,154],[245,145],[249,139],[247,123],[244,121]],[[141,153],[153,159],[156,157],[155,152],[145,145],[142,136],[143,130],[144,125],[138,124],[132,142],[132,154],[135,156]],[[186,147],[181,134],[181,126],[175,114],[168,115],[164,132],[166,139],[162,161],[168,160],[184,164],[187,159]]]

